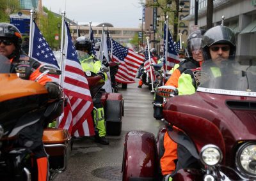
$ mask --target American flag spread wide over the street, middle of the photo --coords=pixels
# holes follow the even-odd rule
[[[112,46],[112,60],[114,62],[120,62],[118,72],[115,75],[116,82],[134,83],[138,68],[144,62],[144,56],[136,54],[115,40],[112,40]]]

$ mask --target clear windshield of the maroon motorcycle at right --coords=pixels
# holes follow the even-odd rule
[[[207,60],[194,75],[199,92],[256,97],[256,57]]]

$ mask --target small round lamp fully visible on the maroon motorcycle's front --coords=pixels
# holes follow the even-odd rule
[[[221,162],[222,152],[216,145],[205,145],[200,151],[200,159],[203,164],[214,166]]]

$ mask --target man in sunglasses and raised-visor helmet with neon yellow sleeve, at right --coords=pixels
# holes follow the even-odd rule
[[[202,37],[202,51],[205,61],[211,59],[218,62],[220,59],[228,59],[236,55],[236,38],[234,31],[229,27],[218,25],[209,29]],[[179,78],[179,95],[193,94],[196,91],[195,72],[188,69]],[[191,86],[192,85],[192,86]]]

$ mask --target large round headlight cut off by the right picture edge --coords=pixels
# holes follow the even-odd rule
[[[256,143],[250,142],[242,145],[236,154],[236,164],[238,168],[256,177]]]

